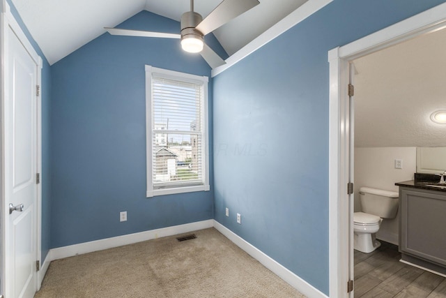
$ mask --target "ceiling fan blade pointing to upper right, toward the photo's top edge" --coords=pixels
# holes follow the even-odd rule
[[[223,0],[195,29],[206,35],[259,3],[258,0]]]

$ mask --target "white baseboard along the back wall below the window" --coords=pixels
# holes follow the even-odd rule
[[[185,225],[174,225],[173,227],[161,228],[157,230],[150,230],[145,232],[139,232],[134,234],[127,234],[118,237],[112,237],[107,239],[100,239],[96,241],[84,242],[81,244],[74,244],[70,246],[63,246],[59,248],[53,248],[49,251],[51,260],[59,260],[62,258],[72,257],[74,255],[82,255],[84,253],[93,253],[93,251],[102,251],[108,248],[114,248],[118,246],[134,244],[141,241],[151,240],[160,237],[173,236],[176,234],[182,234],[192,232],[196,230],[203,230],[213,227],[214,221],[209,219],[208,221],[198,221],[196,223],[186,223]],[[48,257],[47,257],[48,259]],[[45,260],[46,261],[46,260]]]

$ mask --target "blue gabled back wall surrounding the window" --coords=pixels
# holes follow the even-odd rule
[[[142,11],[119,27],[178,33],[180,24]],[[206,40],[222,52],[215,37]],[[210,78],[179,40],[109,33],[51,67],[52,248],[213,218],[212,186],[146,198],[146,64]],[[120,211],[128,221],[119,222]]]

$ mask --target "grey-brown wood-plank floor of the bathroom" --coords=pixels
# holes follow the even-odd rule
[[[398,247],[380,242],[372,253],[355,251],[355,297],[446,297],[446,278],[399,262]]]

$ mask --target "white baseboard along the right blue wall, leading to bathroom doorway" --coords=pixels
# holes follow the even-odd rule
[[[301,292],[307,297],[327,298],[323,292],[314,288],[312,285],[304,281],[299,276],[293,274],[293,272],[280,265],[278,262],[270,258],[268,255],[260,251],[258,248],[249,244],[245,239],[239,237],[237,234],[224,227],[221,223],[214,221],[214,228],[222,233],[226,238],[233,241],[238,247],[243,249],[246,253],[252,256],[252,258],[261,262],[263,266],[270,269],[274,274],[282,278],[286,283],[289,283],[293,288]]]

